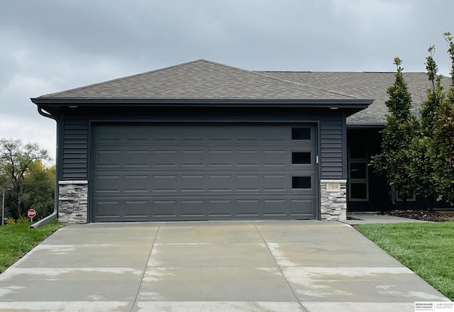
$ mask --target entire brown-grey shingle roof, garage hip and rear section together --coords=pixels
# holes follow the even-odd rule
[[[39,99],[375,99],[368,108],[348,117],[349,126],[384,125],[387,89],[394,72],[265,72],[248,71],[207,60],[135,74],[108,82],[40,96]],[[414,101],[413,111],[426,99],[426,73],[404,73]],[[450,84],[444,78],[443,84]]]

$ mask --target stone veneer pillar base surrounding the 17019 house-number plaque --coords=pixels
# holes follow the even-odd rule
[[[326,191],[326,184],[338,183],[340,191]],[[320,209],[323,221],[347,220],[347,180],[330,179],[320,181]]]

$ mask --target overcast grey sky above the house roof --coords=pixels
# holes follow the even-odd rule
[[[197,59],[251,70],[425,71],[450,60],[452,0],[13,0],[0,2],[0,138],[55,155],[31,97]],[[55,157],[54,157],[55,158]]]

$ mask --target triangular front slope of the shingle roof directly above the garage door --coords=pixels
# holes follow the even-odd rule
[[[299,82],[196,60],[40,98],[94,99],[352,99]]]

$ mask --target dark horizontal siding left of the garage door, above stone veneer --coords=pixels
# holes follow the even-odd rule
[[[67,117],[63,126],[62,179],[88,177],[88,121]]]

